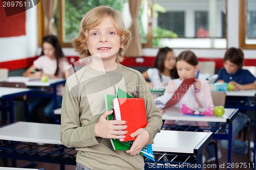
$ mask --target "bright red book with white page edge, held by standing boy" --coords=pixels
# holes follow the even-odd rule
[[[146,110],[143,98],[116,98],[113,100],[116,120],[125,120],[128,133],[120,141],[135,140],[131,133],[147,125]]]

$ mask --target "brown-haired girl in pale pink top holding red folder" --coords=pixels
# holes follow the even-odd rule
[[[194,78],[198,66],[198,58],[191,51],[184,51],[177,57],[176,68],[178,71],[179,79],[170,80],[164,93],[173,94],[184,79]],[[209,108],[213,105],[210,83],[206,80],[199,80],[195,78],[195,83],[187,87],[188,90],[185,96],[174,105],[174,107],[181,107],[186,104],[189,108]],[[187,125],[187,126],[204,126],[208,127],[207,122],[190,122],[190,121],[172,121],[166,120],[166,124]]]

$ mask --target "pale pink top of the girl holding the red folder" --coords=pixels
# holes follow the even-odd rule
[[[185,96],[174,107],[180,107],[182,104],[186,104],[190,108],[209,108],[213,105],[210,83],[207,80],[199,80],[201,82],[201,89],[195,92],[194,85],[190,86]],[[179,85],[182,83],[180,79],[170,80],[164,93],[173,94]],[[187,121],[172,121],[167,120],[165,124],[178,124],[178,125],[192,125],[192,126],[206,126],[207,122],[187,122]]]

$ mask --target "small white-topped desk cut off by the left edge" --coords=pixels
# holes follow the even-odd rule
[[[7,120],[7,110],[9,110],[9,122],[14,122],[13,98],[29,94],[30,89],[14,88],[14,87],[0,87],[0,108],[2,111],[2,120]]]

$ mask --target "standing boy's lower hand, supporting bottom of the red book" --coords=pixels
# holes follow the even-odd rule
[[[130,150],[126,151],[126,153],[130,155],[137,155],[140,153],[142,148],[146,145],[148,138],[150,138],[150,133],[148,133],[145,129],[140,128],[134,133],[131,133],[131,137],[135,137],[136,139],[133,142]]]

